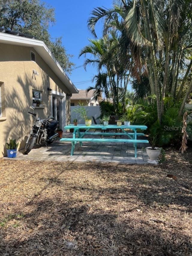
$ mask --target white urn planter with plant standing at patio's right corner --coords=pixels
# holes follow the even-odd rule
[[[155,146],[157,141],[157,135],[150,137],[149,136],[149,142],[151,144],[151,147],[146,147],[147,155],[149,156],[149,160],[147,161],[149,164],[158,164],[157,158],[159,157],[161,153],[161,148],[158,148]]]

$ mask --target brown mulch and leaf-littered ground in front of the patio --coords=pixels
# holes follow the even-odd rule
[[[0,255],[192,255],[191,175],[190,149],[158,166],[0,159]]]

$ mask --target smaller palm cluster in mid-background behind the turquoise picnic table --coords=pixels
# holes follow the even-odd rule
[[[119,98],[123,98],[125,102],[125,94],[127,91],[127,85],[129,80],[128,66],[129,61],[126,59],[125,65],[119,56],[119,38],[116,33],[111,32],[109,35],[104,36],[101,39],[89,40],[91,44],[85,46],[79,56],[83,54],[91,54],[92,58],[87,58],[84,62],[84,66],[88,64],[96,65],[98,68],[98,75],[95,76],[95,96],[104,92],[106,97],[109,96],[109,91],[113,98],[113,105],[115,113],[118,113]],[[121,88],[121,90],[120,90]],[[119,97],[121,92],[121,97]],[[125,104],[123,104],[125,109]]]

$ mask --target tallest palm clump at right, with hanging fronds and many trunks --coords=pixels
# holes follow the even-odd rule
[[[159,122],[165,97],[182,100],[181,115],[192,91],[191,82],[182,94],[192,66],[192,62],[186,61],[191,59],[192,48],[191,0],[118,0],[112,8],[98,7],[91,14],[88,27],[93,35],[96,36],[96,23],[103,20],[104,35],[115,30],[120,35],[119,48],[123,55],[131,54],[131,76],[138,81],[141,75],[148,77],[150,93],[156,95]],[[182,74],[180,85],[178,80]]]

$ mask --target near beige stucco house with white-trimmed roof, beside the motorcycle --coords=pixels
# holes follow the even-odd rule
[[[0,29],[0,157],[8,138],[20,137],[19,148],[24,147],[31,105],[39,117],[52,115],[61,127],[68,124],[72,93],[78,90],[44,42]]]

